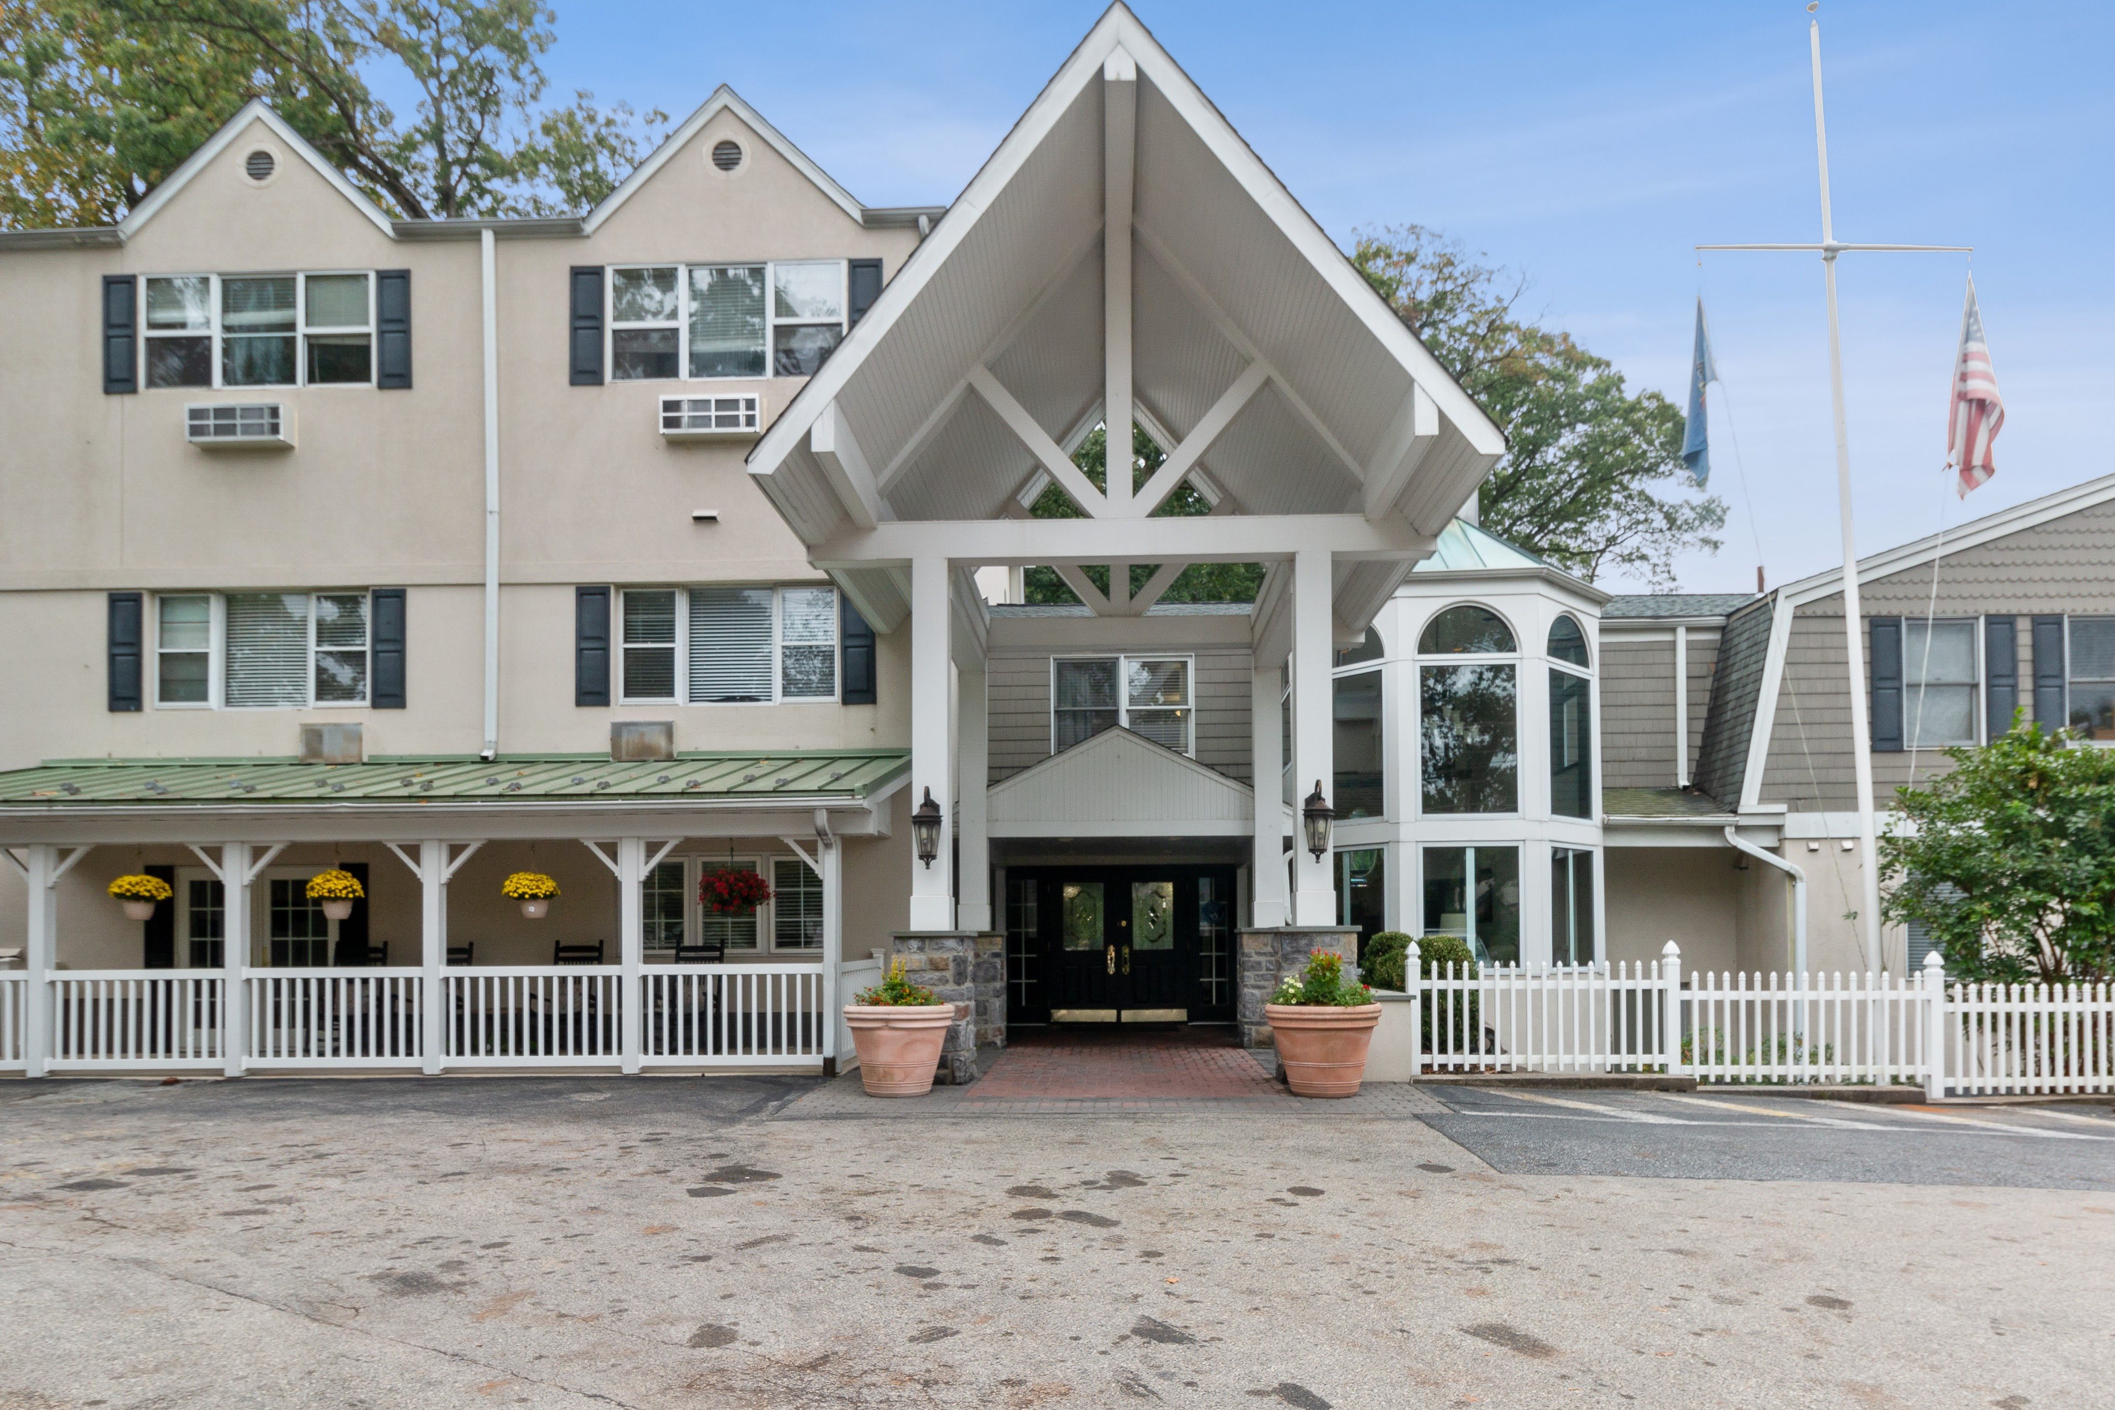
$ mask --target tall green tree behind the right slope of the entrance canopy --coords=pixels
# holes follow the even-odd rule
[[[1485,528],[1588,581],[1626,569],[1667,586],[1677,552],[1719,548],[1726,505],[1688,482],[1681,408],[1519,317],[1525,279],[1508,285],[1423,226],[1362,233],[1351,262],[1504,429]]]

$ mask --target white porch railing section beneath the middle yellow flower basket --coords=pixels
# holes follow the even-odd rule
[[[250,1051],[258,1068],[417,1068],[415,968],[252,970]]]

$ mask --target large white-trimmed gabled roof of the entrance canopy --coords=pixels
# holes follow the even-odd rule
[[[1195,476],[1210,499],[1235,514],[1347,514],[1368,478],[1400,469],[1392,514],[1436,535],[1504,452],[1497,425],[1112,4],[751,450],[804,543],[861,514],[1013,518],[1051,465],[1024,427],[1070,450],[1096,425],[1117,85],[1136,87],[1136,414],[1170,452],[1225,416]],[[835,446],[829,463],[812,433]],[[871,503],[846,488],[854,461]]]

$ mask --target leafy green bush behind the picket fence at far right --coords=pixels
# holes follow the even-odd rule
[[[2016,723],[1946,755],[1929,789],[1895,791],[1880,913],[1923,926],[1954,979],[2115,979],[2115,753]]]

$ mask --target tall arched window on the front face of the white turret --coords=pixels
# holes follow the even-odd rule
[[[1432,617],[1417,641],[1426,657],[1516,649],[1504,617],[1468,602]],[[1521,812],[1519,670],[1514,662],[1419,664],[1423,812]]]

